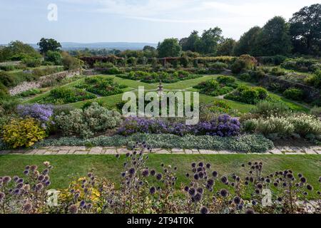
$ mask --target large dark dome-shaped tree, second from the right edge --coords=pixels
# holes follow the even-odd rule
[[[288,34],[288,25],[281,16],[275,16],[267,21],[255,41],[254,56],[286,56],[292,45]]]

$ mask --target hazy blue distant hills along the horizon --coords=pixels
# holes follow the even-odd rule
[[[30,43],[34,48],[39,48],[36,43]],[[63,42],[61,43],[63,50],[82,50],[85,48],[89,49],[119,49],[123,50],[141,50],[144,46],[157,47],[156,43],[126,43],[126,42],[103,42],[103,43],[72,43]]]

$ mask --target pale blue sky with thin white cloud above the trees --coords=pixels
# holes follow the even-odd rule
[[[0,43],[37,43],[41,37],[158,43],[215,26],[223,36],[238,39],[273,16],[288,20],[317,3],[321,0],[0,0]],[[56,11],[49,9],[52,4]]]

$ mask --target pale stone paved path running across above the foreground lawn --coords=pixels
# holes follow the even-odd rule
[[[43,147],[33,150],[0,150],[0,155],[116,155],[130,152],[126,147]],[[153,149],[156,154],[173,154],[173,155],[230,155],[238,152],[227,150],[188,150],[173,148]],[[275,147],[267,153],[250,153],[259,155],[321,155],[321,146],[312,147]]]

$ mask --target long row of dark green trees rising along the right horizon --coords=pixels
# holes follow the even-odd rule
[[[218,27],[193,31],[180,39],[165,39],[158,44],[160,57],[178,56],[181,51],[192,51],[206,56],[321,56],[321,4],[306,6],[293,14],[289,21],[275,16],[263,28],[255,26],[240,37],[224,38]]]

